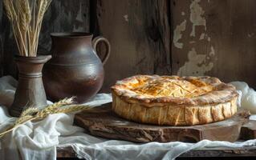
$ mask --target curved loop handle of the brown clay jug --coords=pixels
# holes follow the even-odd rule
[[[110,43],[108,41],[107,38],[104,38],[102,36],[98,36],[98,37],[95,37],[93,40],[92,40],[92,47],[93,49],[95,50],[96,52],[96,47],[98,45],[99,42],[104,42],[107,46],[107,53],[105,54],[105,57],[101,60],[102,61],[102,64],[104,65],[107,61],[108,61],[108,58],[109,58],[109,55],[110,55],[110,50],[111,50],[111,47],[110,47]]]

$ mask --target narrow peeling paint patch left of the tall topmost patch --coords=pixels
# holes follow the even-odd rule
[[[173,44],[180,49],[183,48],[183,43],[178,41],[182,38],[181,32],[185,31],[186,22],[187,21],[184,20],[180,25],[177,25],[173,33]]]

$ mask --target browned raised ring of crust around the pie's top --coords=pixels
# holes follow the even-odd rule
[[[178,76],[165,76],[166,78],[173,78],[176,80],[185,81],[200,81],[205,82],[207,85],[213,86],[213,90],[208,93],[201,94],[193,98],[186,97],[143,97],[141,94],[132,93],[128,89],[130,82],[141,79],[141,78],[159,78],[158,75],[135,75],[131,78],[124,78],[121,81],[116,82],[116,85],[112,86],[112,94],[116,94],[126,102],[136,103],[144,106],[165,106],[166,104],[176,105],[176,106],[205,106],[210,104],[218,104],[223,102],[229,102],[232,99],[238,97],[238,93],[235,87],[221,82],[218,78],[213,78],[209,76],[201,77],[178,77]]]

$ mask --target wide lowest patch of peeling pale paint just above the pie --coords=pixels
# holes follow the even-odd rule
[[[188,54],[189,61],[185,62],[184,66],[178,70],[179,76],[200,76],[204,75],[207,71],[213,69],[213,62],[205,63],[206,54],[197,54],[197,51],[192,48]]]

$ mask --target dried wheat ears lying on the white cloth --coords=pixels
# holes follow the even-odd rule
[[[33,120],[40,120],[40,119],[46,118],[50,114],[70,113],[70,112],[91,109],[90,106],[72,105],[73,102],[74,102],[74,98],[64,98],[59,102],[55,102],[51,105],[46,106],[42,110],[39,110],[38,108],[35,108],[35,107],[29,107],[26,110],[22,111],[22,114],[14,122],[13,126],[8,127],[5,131],[0,133],[0,138],[26,122],[33,121]]]

